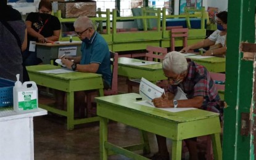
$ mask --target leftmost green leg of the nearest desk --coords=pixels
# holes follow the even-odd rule
[[[107,150],[105,142],[107,142],[107,118],[99,118],[99,158],[107,160]]]

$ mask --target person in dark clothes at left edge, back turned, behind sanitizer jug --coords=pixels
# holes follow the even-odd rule
[[[0,1],[0,78],[23,81],[22,51],[27,47],[27,30],[18,10]],[[27,70],[26,70],[27,71]]]

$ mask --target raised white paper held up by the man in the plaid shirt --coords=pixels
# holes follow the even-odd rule
[[[141,78],[141,83],[139,84],[139,94],[142,97],[142,100],[153,104],[151,101],[154,98],[159,98],[164,93],[164,89],[156,86],[152,82],[147,81],[145,78]],[[154,106],[154,105],[153,105]]]

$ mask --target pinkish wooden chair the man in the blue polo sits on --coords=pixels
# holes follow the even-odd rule
[[[118,78],[118,53],[110,51],[110,62],[112,66],[112,82],[111,88],[105,90],[104,95],[115,95],[118,94],[117,88],[117,78]],[[87,117],[91,116],[92,114],[96,114],[96,108],[92,106],[93,102],[93,95],[95,96],[96,92],[90,92],[86,94],[86,115]]]

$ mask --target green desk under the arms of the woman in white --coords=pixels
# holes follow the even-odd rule
[[[207,68],[207,70],[210,72],[220,73],[220,72],[226,71],[225,70],[226,58],[210,57],[210,58],[197,59],[197,58],[193,58],[193,56],[186,57],[186,58],[191,58],[191,60],[193,60],[194,62],[205,66],[205,68]]]

